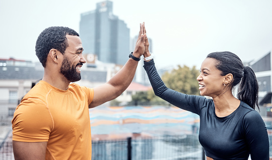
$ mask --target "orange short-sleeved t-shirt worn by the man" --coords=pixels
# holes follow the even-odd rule
[[[70,84],[60,90],[40,81],[16,108],[13,140],[48,141],[46,159],[91,159],[88,106],[93,88]]]

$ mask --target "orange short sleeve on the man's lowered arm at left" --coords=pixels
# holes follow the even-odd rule
[[[12,127],[13,140],[40,142],[48,141],[54,123],[46,103],[30,98],[16,108]]]

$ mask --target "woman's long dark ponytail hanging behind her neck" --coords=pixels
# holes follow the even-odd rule
[[[253,70],[248,66],[244,66],[244,74],[238,88],[237,98],[251,108],[255,109],[256,105],[259,109],[258,90],[258,82]]]

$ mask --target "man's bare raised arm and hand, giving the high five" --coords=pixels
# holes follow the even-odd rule
[[[145,52],[145,37],[143,32],[143,25],[140,24],[140,32],[138,40],[133,52],[133,56],[140,58]],[[89,108],[96,107],[100,104],[103,104],[107,101],[115,99],[129,86],[131,83],[138,61],[129,58],[126,64],[122,69],[116,73],[107,83],[95,87],[93,101],[89,105]]]

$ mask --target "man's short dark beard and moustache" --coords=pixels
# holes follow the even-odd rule
[[[81,79],[80,73],[76,71],[76,66],[82,65],[82,63],[78,63],[77,65],[72,65],[71,61],[68,60],[66,56],[61,64],[60,73],[64,75],[64,77],[70,82],[76,82]]]

